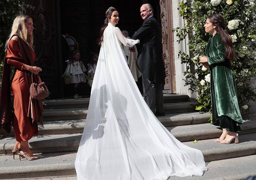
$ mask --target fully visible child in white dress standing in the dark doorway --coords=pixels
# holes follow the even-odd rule
[[[78,95],[78,86],[80,82],[86,82],[87,78],[85,74],[87,70],[80,60],[80,57],[80,52],[75,51],[72,60],[69,61],[67,69],[65,70],[65,73],[71,74],[71,84],[74,84],[74,98],[81,97]]]

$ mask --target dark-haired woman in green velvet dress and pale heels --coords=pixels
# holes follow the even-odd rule
[[[222,144],[238,143],[242,116],[238,106],[236,82],[230,61],[236,60],[231,36],[227,33],[225,20],[220,15],[211,15],[204,25],[210,32],[206,56],[200,62],[206,63],[211,74],[212,124],[223,129],[221,137],[215,140]]]

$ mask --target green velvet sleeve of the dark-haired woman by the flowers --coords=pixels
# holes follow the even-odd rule
[[[226,60],[225,47],[223,46],[221,35],[215,34],[212,41],[213,46],[211,46],[209,49],[209,51],[211,52],[211,56],[207,58],[209,65],[213,63],[223,62]]]

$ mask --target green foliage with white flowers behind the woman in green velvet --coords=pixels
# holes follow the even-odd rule
[[[204,31],[204,24],[207,17],[212,14],[223,16],[226,25],[231,20],[238,20],[238,28],[233,30],[227,28],[227,31],[233,38],[237,55],[236,61],[232,62],[232,67],[237,83],[240,110],[243,113],[249,110],[248,102],[256,100],[255,85],[252,81],[256,76],[256,0],[251,2],[221,0],[217,5],[214,4],[216,2],[217,0],[191,0],[189,3],[182,1],[179,4],[178,10],[186,23],[184,27],[177,27],[173,31],[177,33],[179,43],[187,36],[191,37],[188,46],[193,53],[190,56],[185,52],[179,52],[181,63],[188,64],[184,71],[184,81],[191,91],[198,93],[199,106],[196,106],[196,110],[211,111],[210,83],[206,78],[210,71],[203,68],[198,58],[200,55],[205,55],[208,39],[211,36]]]

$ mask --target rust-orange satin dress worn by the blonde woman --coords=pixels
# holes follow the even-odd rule
[[[33,61],[35,53],[31,49]],[[11,83],[12,95],[14,99],[14,118],[13,128],[16,141],[28,141],[35,134],[38,134],[37,121],[32,124],[31,118],[27,117],[29,111],[29,88],[27,86],[25,72],[23,72],[24,63],[21,60],[19,43],[16,40],[10,40],[7,47],[7,63],[16,67],[16,72]]]

